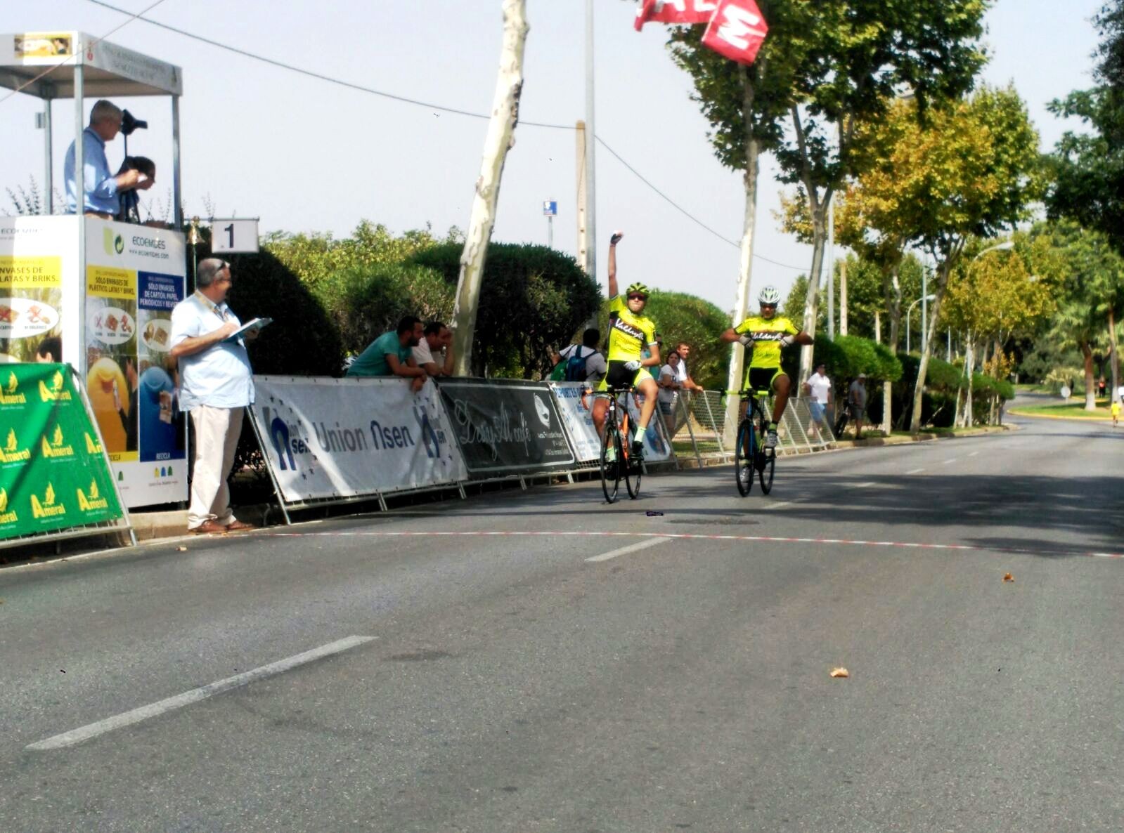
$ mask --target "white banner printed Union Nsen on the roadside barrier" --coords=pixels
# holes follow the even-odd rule
[[[254,376],[253,419],[287,503],[468,478],[432,381]]]

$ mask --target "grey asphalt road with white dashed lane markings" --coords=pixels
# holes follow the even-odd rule
[[[1124,829],[1124,429],[1022,424],[2,569],[0,831]]]

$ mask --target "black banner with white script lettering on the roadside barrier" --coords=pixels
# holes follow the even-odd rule
[[[439,387],[470,475],[531,474],[574,465],[545,383],[443,379]]]

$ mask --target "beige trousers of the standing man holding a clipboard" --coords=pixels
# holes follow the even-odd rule
[[[191,410],[191,424],[196,429],[196,465],[191,477],[188,529],[194,529],[203,521],[215,521],[224,527],[234,521],[226,478],[234,467],[234,452],[238,447],[245,410],[207,405]]]

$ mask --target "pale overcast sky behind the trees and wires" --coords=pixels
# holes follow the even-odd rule
[[[139,11],[153,0],[116,0]],[[1090,83],[1096,34],[1089,21],[1102,0],[998,0],[987,16],[992,55],[984,77],[1014,82],[1027,102],[1044,149],[1062,126],[1045,104]],[[0,0],[6,30],[79,29],[101,36],[125,16],[90,0]],[[523,122],[572,126],[584,117],[584,16],[579,0],[529,0]],[[598,148],[599,267],[609,234],[623,229],[622,280],[692,292],[723,309],[733,305],[743,196],[741,175],[723,168],[706,140],[707,125],[689,100],[691,85],[668,56],[665,29],[635,33],[635,7],[598,0],[596,10],[597,134],[682,209],[700,228]],[[496,88],[499,0],[310,2],[289,0],[163,0],[147,13],[176,28],[241,49],[444,107],[487,113]],[[361,219],[400,232],[432,223],[464,228],[480,171],[487,121],[438,112],[268,66],[135,20],[111,42],[183,70],[182,165],[187,211],[260,217],[263,231],[330,231],[346,236]],[[6,91],[0,90],[0,95]],[[92,103],[92,102],[90,102]],[[130,138],[134,154],[158,166],[149,196],[167,201],[171,184],[166,99],[118,103],[147,119]],[[17,94],[0,103],[4,153],[0,187],[42,182],[42,102]],[[73,139],[73,107],[54,106],[55,176]],[[543,200],[559,203],[554,245],[577,250],[575,147],[572,129],[520,123],[508,155],[493,239],[546,242]],[[116,166],[124,146],[109,147]],[[777,229],[780,185],[767,163],[758,211],[753,285],[785,294],[808,268],[810,248]],[[0,191],[0,213],[11,211]],[[601,277],[604,282],[604,275]],[[755,294],[755,293],[754,293]]]

